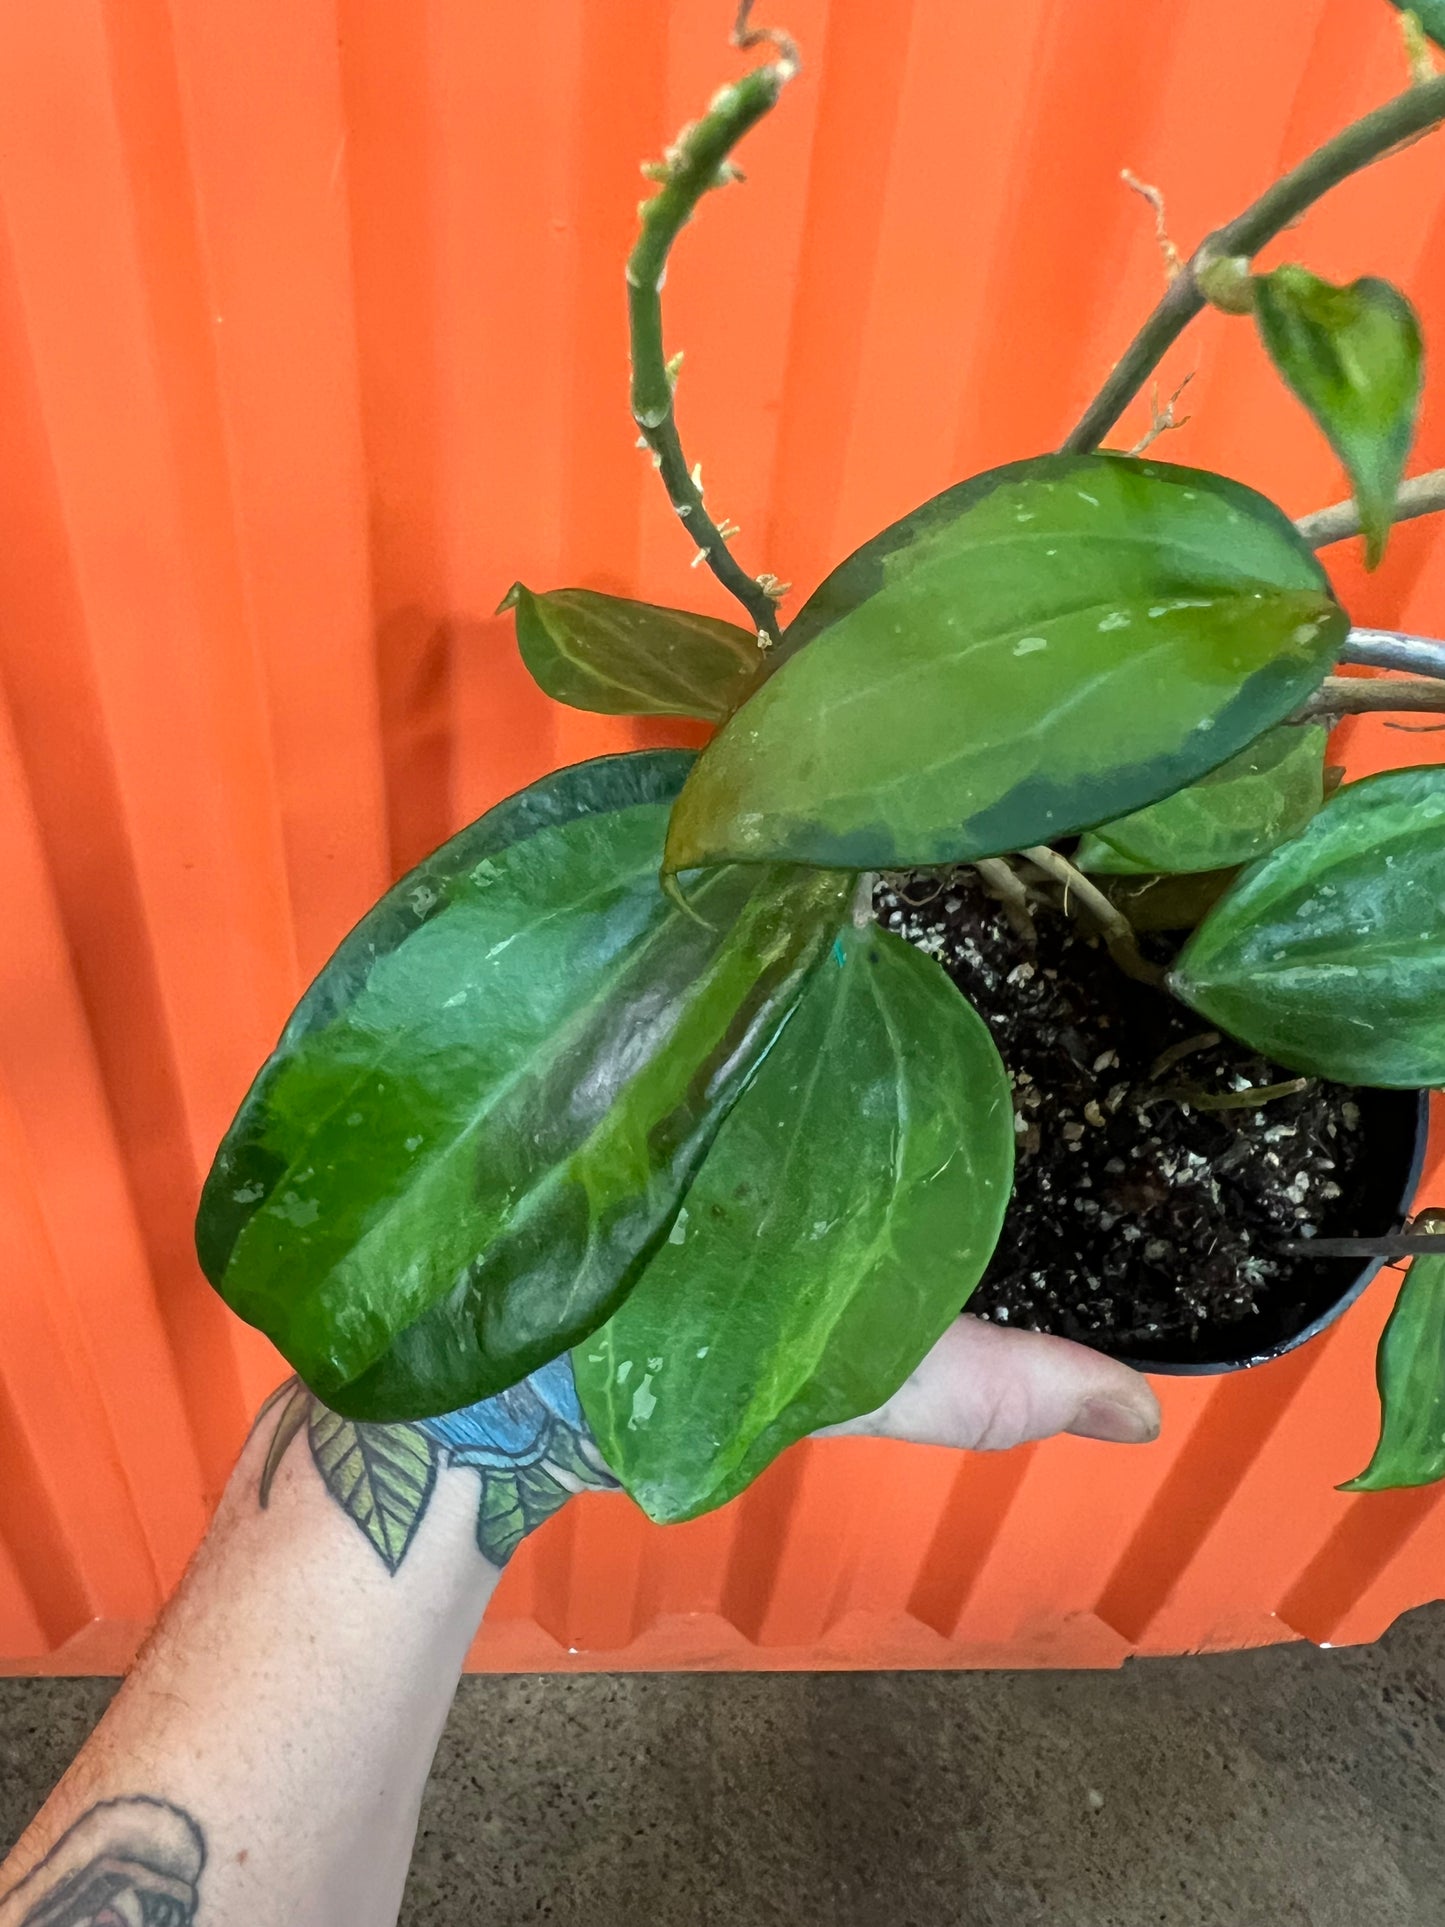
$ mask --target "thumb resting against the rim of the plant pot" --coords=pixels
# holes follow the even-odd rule
[[[1143,1445],[1158,1438],[1160,1407],[1148,1380],[1116,1359],[959,1318],[884,1407],[834,1430],[971,1451],[1056,1432]]]

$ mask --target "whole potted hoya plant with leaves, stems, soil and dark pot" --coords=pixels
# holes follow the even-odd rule
[[[507,597],[549,696],[715,734],[545,777],[368,911],[216,1156],[206,1276],[320,1401],[318,1461],[522,1387],[509,1424],[580,1399],[676,1520],[882,1405],[963,1303],[1231,1370],[1410,1256],[1362,1484],[1437,1478],[1445,1239],[1405,1212],[1445,1083],[1445,769],[1341,784],[1329,726],[1445,709],[1445,644],[1353,628],[1318,551],[1378,563],[1445,476],[1405,476],[1405,295],[1254,256],[1445,121],[1445,6],[1405,15],[1397,98],[1173,258],[1062,449],[786,619],[682,451],[663,339],[670,249],[798,69],[748,13],[763,64],[644,170],[626,264],[640,445],[742,620]],[[1258,330],[1351,501],[1293,522],[1162,461],[1173,405],[1102,445],[1206,304]]]

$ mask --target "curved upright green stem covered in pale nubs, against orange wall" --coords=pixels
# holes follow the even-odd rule
[[[740,44],[755,39],[776,39],[748,27],[748,10],[738,21]],[[773,108],[784,85],[798,71],[792,46],[784,46],[775,62],[755,67],[732,87],[713,96],[703,119],[684,127],[667,158],[653,170],[661,191],[640,208],[642,233],[628,256],[628,320],[632,330],[632,418],[642,439],[653,451],[669,501],[684,528],[697,543],[699,559],[707,563],[722,588],[730,590],[748,611],[763,646],[776,642],[778,613],[767,590],[734,561],[722,528],[703,507],[697,470],[688,466],[672,410],[676,368],[663,351],[663,281],[667,256],[682,227],[692,220],[697,202],[711,187],[734,179],[728,160],[732,148],[749,127]]]

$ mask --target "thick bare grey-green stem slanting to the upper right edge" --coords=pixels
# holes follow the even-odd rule
[[[1408,92],[1387,100],[1385,106],[1366,114],[1364,119],[1345,127],[1333,141],[1326,141],[1308,154],[1299,168],[1291,168],[1281,179],[1268,187],[1260,198],[1245,208],[1225,227],[1208,235],[1191,254],[1189,262],[1169,283],[1160,304],[1148,316],[1135,339],[1116,364],[1104,387],[1089,403],[1073,434],[1064,443],[1065,453],[1081,455],[1096,449],[1104,436],[1119,420],[1127,405],[1158,368],[1164,353],[1179,339],[1206,303],[1200,287],[1200,274],[1218,260],[1245,258],[1274,241],[1277,233],[1297,222],[1331,187],[1339,187],[1351,173],[1368,168],[1391,148],[1428,133],[1445,119],[1445,75],[1424,81]]]

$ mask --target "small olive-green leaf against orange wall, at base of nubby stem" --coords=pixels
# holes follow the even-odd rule
[[[516,646],[547,696],[599,715],[732,715],[763,667],[751,630],[686,609],[659,609],[597,590],[534,595],[518,582]]]

